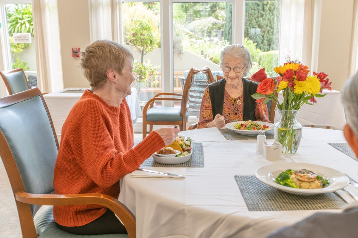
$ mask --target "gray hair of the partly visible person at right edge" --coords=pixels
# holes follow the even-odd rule
[[[358,139],[358,71],[345,82],[342,103],[347,123]]]

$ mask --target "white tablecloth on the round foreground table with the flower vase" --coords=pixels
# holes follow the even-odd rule
[[[265,164],[320,164],[358,180],[358,162],[327,144],[345,142],[342,131],[304,127],[296,154],[267,161],[256,153],[256,140],[227,141],[218,130],[180,132],[203,142],[204,149],[204,167],[187,167],[186,178],[137,178],[127,174],[121,179],[119,200],[136,217],[137,237],[260,238],[317,212],[248,211],[234,175],[254,175]],[[358,189],[350,185],[347,188],[358,195]],[[343,191],[338,193],[349,203],[354,202]]]

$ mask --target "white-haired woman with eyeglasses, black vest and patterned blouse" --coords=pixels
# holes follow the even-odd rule
[[[251,97],[258,84],[243,77],[252,66],[250,52],[234,44],[227,46],[220,58],[224,78],[205,88],[197,128],[222,128],[236,119],[270,122],[266,104]]]

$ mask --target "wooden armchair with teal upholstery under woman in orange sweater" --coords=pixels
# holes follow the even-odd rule
[[[57,136],[38,88],[0,98],[0,157],[15,197],[23,238],[84,237],[58,228],[52,217],[52,206],[79,204],[100,204],[111,209],[128,232],[93,237],[135,238],[135,217],[116,198],[98,193],[54,194],[57,153]],[[33,204],[50,206],[33,219],[40,207]]]

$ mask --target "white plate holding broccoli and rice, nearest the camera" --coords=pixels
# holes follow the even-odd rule
[[[281,184],[275,183],[276,177],[281,173],[286,171],[286,169],[300,170],[308,169],[319,176],[322,176],[325,179],[328,179],[329,186],[325,188],[316,188],[316,189],[304,189],[304,188],[291,188],[286,187]],[[256,170],[256,177],[263,183],[270,185],[271,187],[278,188],[284,192],[297,194],[297,195],[314,195],[319,193],[328,193],[334,192],[339,189],[344,188],[348,185],[348,177],[329,167],[320,166],[318,164],[309,164],[309,163],[296,163],[296,162],[287,162],[287,163],[272,163],[261,166]]]

